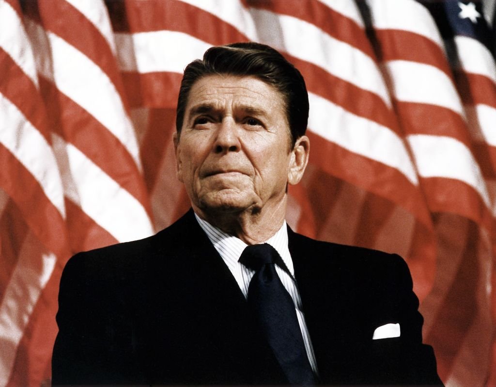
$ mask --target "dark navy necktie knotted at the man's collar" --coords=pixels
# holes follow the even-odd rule
[[[255,270],[248,286],[248,306],[287,379],[281,383],[314,384],[295,304],[275,270],[275,263],[286,269],[281,256],[268,243],[254,244],[245,248],[239,261]]]

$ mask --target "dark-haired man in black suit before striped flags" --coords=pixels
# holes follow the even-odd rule
[[[186,67],[174,144],[192,209],[67,263],[54,384],[441,384],[406,263],[285,223],[308,111],[270,47]]]

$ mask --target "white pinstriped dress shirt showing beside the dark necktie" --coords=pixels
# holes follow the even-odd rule
[[[202,230],[207,234],[208,238],[219,252],[220,256],[224,260],[225,264],[233,274],[236,282],[238,283],[241,291],[248,298],[248,286],[251,281],[251,277],[255,274],[254,270],[249,269],[242,263],[238,262],[241,253],[248,246],[240,238],[229,235],[210,223],[204,221],[196,214],[194,214],[198,224]],[[298,292],[298,287],[296,285],[295,269],[293,267],[293,260],[291,259],[291,254],[288,248],[288,229],[286,226],[286,221],[273,236],[265,241],[265,243],[270,244],[274,247],[279,255],[281,256],[283,262],[289,269],[291,276],[281,269],[278,265],[275,265],[276,272],[281,279],[282,284],[291,295],[293,302],[295,303],[296,315],[298,317],[298,322],[300,324],[300,329],[302,331],[303,342],[305,343],[305,349],[307,350],[307,356],[310,361],[311,368],[315,375],[317,375],[317,364],[315,362],[315,354],[313,353],[313,347],[311,345],[310,336],[307,328],[307,323],[305,322],[305,316],[302,311],[302,300],[300,298],[300,293]],[[292,278],[293,277],[293,278]]]

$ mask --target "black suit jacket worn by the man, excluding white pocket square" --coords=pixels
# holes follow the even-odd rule
[[[288,232],[322,384],[441,383],[403,259]],[[72,257],[57,322],[54,384],[250,384],[264,345],[191,210],[149,238]],[[401,337],[372,340],[397,322]]]

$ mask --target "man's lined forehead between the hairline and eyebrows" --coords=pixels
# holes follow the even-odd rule
[[[272,85],[252,77],[210,75],[198,79],[191,87],[186,112],[199,105],[214,109],[254,108],[274,113],[284,112],[283,95]]]

